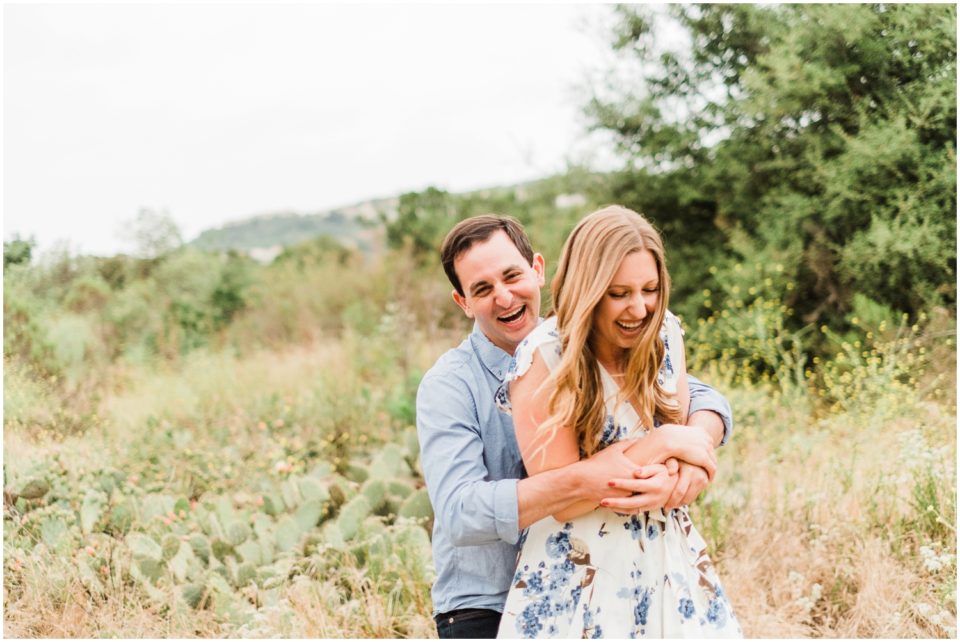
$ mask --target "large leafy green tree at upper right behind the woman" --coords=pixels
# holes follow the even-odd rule
[[[638,82],[588,110],[628,160],[615,198],[684,261],[713,255],[697,283],[783,265],[795,325],[842,320],[858,292],[955,306],[956,7],[672,6],[685,51],[658,42],[665,16],[617,12]]]

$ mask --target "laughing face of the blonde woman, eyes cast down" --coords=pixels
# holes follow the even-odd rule
[[[636,345],[659,298],[660,275],[653,253],[631,252],[593,312],[593,345],[601,361],[616,362]]]

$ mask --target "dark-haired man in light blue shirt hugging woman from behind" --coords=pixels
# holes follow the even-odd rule
[[[540,321],[543,257],[515,219],[485,215],[449,232],[441,260],[453,300],[475,323],[417,391],[420,462],[435,514],[434,619],[441,638],[492,638],[522,529],[583,500],[624,512],[684,505],[706,486],[707,473],[681,464],[675,484],[664,489],[623,454],[624,442],[526,477],[513,423],[494,395],[517,345]],[[726,400],[692,377],[690,397],[688,425],[711,445],[724,443],[731,428]]]

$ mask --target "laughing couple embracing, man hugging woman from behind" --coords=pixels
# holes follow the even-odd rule
[[[470,336],[417,394],[441,638],[741,637],[686,506],[730,407],[686,373],[663,243],[613,206],[543,257],[514,219],[441,248]]]

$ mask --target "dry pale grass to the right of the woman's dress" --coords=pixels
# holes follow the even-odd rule
[[[901,399],[815,420],[730,396],[749,419],[694,521],[746,635],[955,637],[955,410]]]

